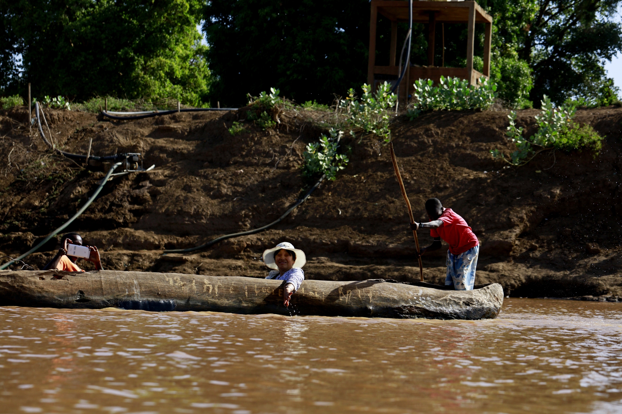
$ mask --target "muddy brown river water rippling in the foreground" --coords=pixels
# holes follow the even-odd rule
[[[481,321],[0,308],[1,413],[622,411],[622,305]]]

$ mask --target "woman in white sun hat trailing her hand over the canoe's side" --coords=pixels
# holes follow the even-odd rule
[[[298,290],[302,281],[305,280],[305,272],[300,269],[307,263],[305,252],[295,249],[292,243],[285,241],[265,250],[263,259],[267,267],[274,269],[268,273],[266,279],[285,281],[283,304],[289,306],[292,293]]]

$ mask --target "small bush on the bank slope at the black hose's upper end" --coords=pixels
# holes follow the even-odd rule
[[[312,178],[320,174],[326,174],[326,178],[335,181],[337,172],[346,168],[348,157],[338,154],[339,141],[343,137],[343,131],[330,128],[329,137],[322,134],[319,142],[312,142],[307,145],[304,152],[305,165],[302,175]]]

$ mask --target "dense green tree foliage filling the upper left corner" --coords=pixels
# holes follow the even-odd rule
[[[200,0],[0,0],[0,87],[23,94],[29,81],[33,96],[199,104],[209,80],[196,27],[202,7]]]

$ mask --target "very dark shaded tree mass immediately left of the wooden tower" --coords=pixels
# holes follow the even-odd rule
[[[298,102],[330,102],[367,77],[367,0],[211,0],[204,20],[221,104],[271,86]]]

